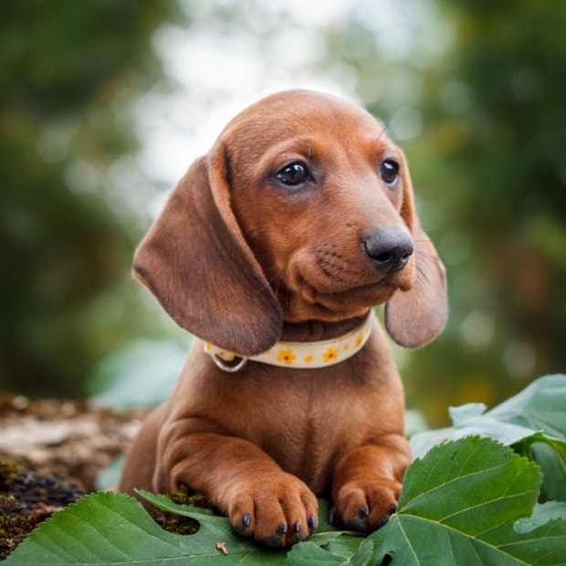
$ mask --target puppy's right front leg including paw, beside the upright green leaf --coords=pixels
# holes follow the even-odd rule
[[[333,523],[369,532],[383,527],[397,508],[404,470],[411,461],[407,441],[387,435],[341,458],[332,483]]]

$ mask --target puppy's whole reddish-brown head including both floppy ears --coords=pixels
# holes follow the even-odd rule
[[[283,320],[386,303],[393,340],[417,347],[447,316],[403,152],[365,110],[304,90],[226,126],[175,187],[134,271],[183,328],[242,355],[266,351]]]

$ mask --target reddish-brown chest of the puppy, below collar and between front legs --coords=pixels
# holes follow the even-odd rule
[[[254,403],[240,414],[235,432],[322,495],[341,456],[372,436],[379,392],[372,383],[332,375],[303,377],[302,383],[300,374],[295,380],[275,378],[268,386],[257,383]],[[242,393],[240,387],[238,397]]]

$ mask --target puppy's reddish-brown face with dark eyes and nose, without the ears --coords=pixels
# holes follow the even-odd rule
[[[365,110],[305,98],[261,101],[219,143],[238,224],[284,320],[340,320],[413,287],[410,179]]]

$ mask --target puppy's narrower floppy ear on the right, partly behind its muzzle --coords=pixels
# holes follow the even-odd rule
[[[385,327],[400,346],[419,348],[444,330],[448,297],[445,267],[414,211],[413,187],[406,163],[403,169],[405,193],[401,215],[413,236],[414,286],[408,291],[395,291],[387,302]]]

